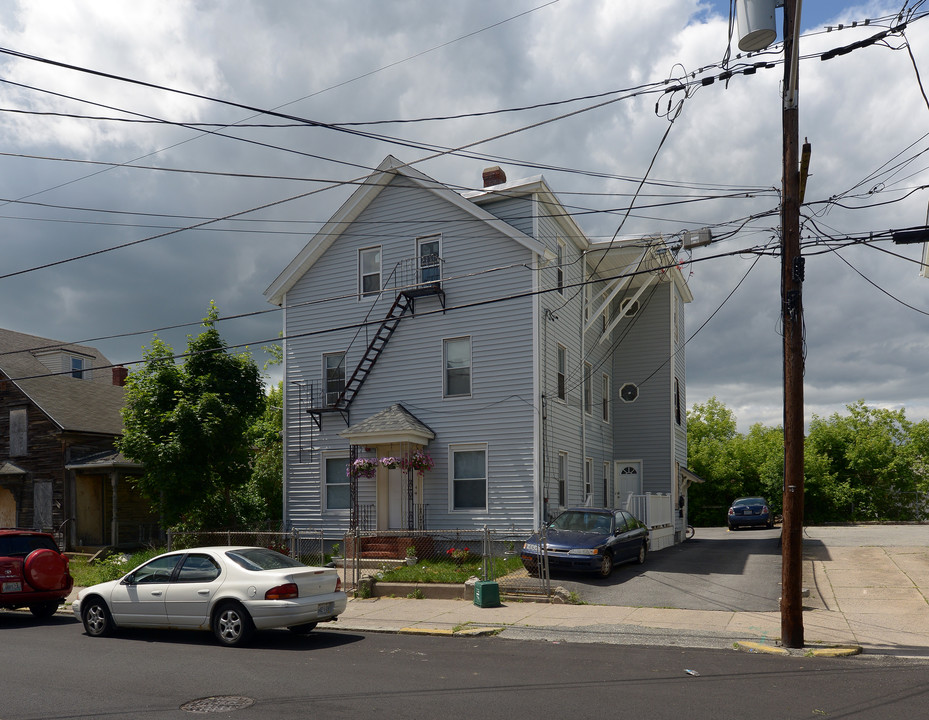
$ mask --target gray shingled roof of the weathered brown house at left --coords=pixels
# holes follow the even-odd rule
[[[37,352],[60,350],[92,359],[91,380],[51,374]],[[0,373],[61,430],[120,435],[124,388],[113,385],[112,363],[96,348],[0,329]],[[104,369],[101,369],[104,368]],[[101,374],[102,373],[102,374]]]

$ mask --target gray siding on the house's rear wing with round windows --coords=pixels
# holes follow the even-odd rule
[[[671,283],[647,288],[635,317],[615,329],[613,356],[614,442],[617,459],[642,460],[644,492],[672,491],[673,362],[670,356]],[[635,402],[619,398],[626,383],[639,388]]]

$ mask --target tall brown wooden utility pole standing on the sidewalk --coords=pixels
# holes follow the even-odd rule
[[[800,254],[799,27],[801,0],[784,0],[784,165],[781,314],[784,332],[784,504],[781,642],[803,647],[803,276]]]

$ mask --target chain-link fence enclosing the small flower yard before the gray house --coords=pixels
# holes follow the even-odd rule
[[[525,539],[525,532],[488,529],[359,531],[345,536],[344,556],[334,561],[343,586],[362,597],[377,594],[378,584],[414,597],[459,586],[457,597],[465,597],[476,579],[495,581],[510,599],[549,599],[547,563],[533,563],[530,573],[520,558]]]

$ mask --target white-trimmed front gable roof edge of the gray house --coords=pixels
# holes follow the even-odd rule
[[[523,245],[532,252],[537,254],[543,252],[544,248],[542,243],[538,240],[529,237],[509,223],[491,215],[486,210],[470,202],[439,181],[433,180],[419,170],[410,167],[406,163],[400,162],[393,155],[388,155],[381,164],[377,166],[377,170],[364,179],[358,189],[352,193],[351,197],[349,197],[348,200],[342,204],[342,207],[329,218],[329,221],[310,239],[297,254],[297,257],[284,268],[284,271],[278,275],[277,279],[265,290],[264,295],[268,299],[268,302],[273,305],[283,305],[284,295],[287,294],[287,291],[306,274],[307,270],[319,260],[322,254],[329,249],[365,208],[367,208],[381,191],[390,184],[391,180],[397,176],[408,178],[413,183],[423,188],[423,190],[438,195],[457,208],[464,210],[469,215],[486,222],[488,225],[491,225],[505,236]]]

